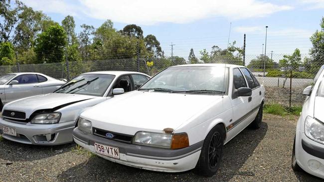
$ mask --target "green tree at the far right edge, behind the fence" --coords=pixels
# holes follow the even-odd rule
[[[324,17],[321,19],[321,30],[316,30],[311,36],[313,47],[310,49],[312,57],[310,72],[315,73],[324,64]]]

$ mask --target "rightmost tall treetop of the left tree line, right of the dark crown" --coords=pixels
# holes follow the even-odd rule
[[[144,42],[145,42],[146,49],[148,50],[148,53],[151,54],[149,55],[150,57],[157,58],[162,56],[163,54],[162,48],[156,36],[152,34],[147,35],[144,38]]]

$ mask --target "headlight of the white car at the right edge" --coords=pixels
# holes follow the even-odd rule
[[[310,116],[305,120],[305,135],[315,142],[324,144],[324,124]]]

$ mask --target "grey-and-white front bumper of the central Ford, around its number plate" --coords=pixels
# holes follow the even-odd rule
[[[128,144],[86,134],[78,128],[73,130],[74,142],[86,150],[109,161],[126,166],[159,172],[184,172],[195,168],[203,141],[187,148],[171,150]],[[110,158],[95,152],[94,143],[119,148],[120,159]]]

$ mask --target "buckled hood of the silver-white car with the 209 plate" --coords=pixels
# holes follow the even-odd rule
[[[42,109],[59,109],[79,101],[95,98],[89,95],[50,93],[19,99],[6,104],[3,110],[16,110],[26,113],[28,118],[33,112]]]

